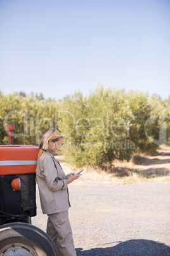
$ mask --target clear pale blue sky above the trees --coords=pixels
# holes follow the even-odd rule
[[[169,0],[1,0],[0,90],[170,95]]]

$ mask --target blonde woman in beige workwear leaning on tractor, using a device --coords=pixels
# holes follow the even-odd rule
[[[37,161],[37,183],[42,213],[48,215],[46,232],[56,246],[57,255],[75,256],[68,217],[70,202],[67,185],[81,174],[65,176],[58,160],[53,157],[52,153],[61,147],[62,140],[62,134],[56,129],[49,129],[42,137]]]

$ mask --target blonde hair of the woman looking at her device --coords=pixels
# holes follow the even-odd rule
[[[53,138],[53,134],[58,134]],[[49,140],[55,142],[59,139],[63,138],[62,134],[54,128],[49,129],[43,136],[41,141],[39,142],[39,149],[49,151]]]

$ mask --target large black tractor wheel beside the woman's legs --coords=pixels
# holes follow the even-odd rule
[[[56,256],[55,245],[38,227],[22,222],[0,227],[1,256]]]

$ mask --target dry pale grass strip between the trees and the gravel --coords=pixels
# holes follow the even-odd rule
[[[140,155],[140,157],[136,157],[138,162],[134,162],[133,158],[129,162],[115,161],[111,168],[106,168],[107,171],[103,171],[98,167],[84,166],[82,176],[79,180],[74,181],[72,185],[87,185],[87,183],[99,185],[103,181],[105,183],[115,182],[118,184],[169,182],[169,155],[170,148],[166,148],[165,150],[159,150],[157,155],[154,156]],[[59,160],[65,174],[79,171],[79,169],[67,164],[62,155],[57,155],[56,159]]]

